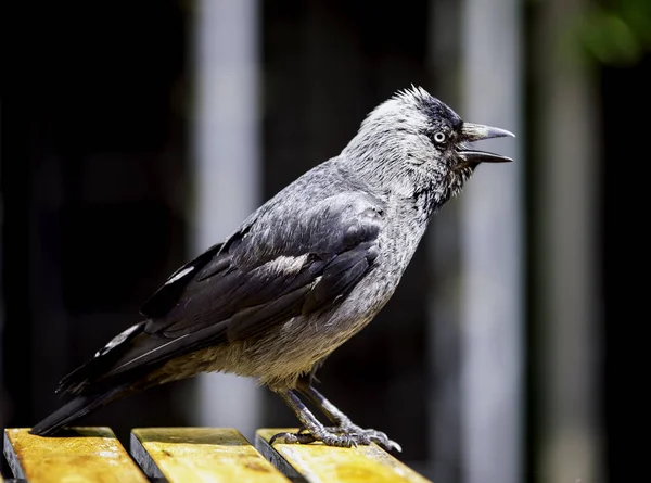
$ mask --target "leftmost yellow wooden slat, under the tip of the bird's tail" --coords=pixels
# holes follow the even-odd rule
[[[72,428],[62,437],[4,430],[4,455],[16,479],[29,483],[146,483],[110,428]]]

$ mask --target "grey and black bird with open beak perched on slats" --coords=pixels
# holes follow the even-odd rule
[[[141,321],[63,377],[56,392],[72,399],[30,433],[55,435],[116,399],[218,371],[256,379],[292,409],[301,430],[273,443],[400,450],[328,401],[315,373],[390,301],[432,216],[477,166],[512,161],[472,143],[513,136],[462,120],[422,87],[395,91],[339,155],[169,276]]]

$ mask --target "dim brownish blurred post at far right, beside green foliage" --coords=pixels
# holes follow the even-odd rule
[[[600,463],[599,156],[597,79],[561,39],[590,4],[545,2],[537,17],[535,200],[540,290],[540,482],[597,481]]]

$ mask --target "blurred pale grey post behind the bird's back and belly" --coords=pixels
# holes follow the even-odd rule
[[[237,229],[259,202],[258,2],[199,0],[194,24],[193,250]],[[196,423],[254,437],[255,382],[227,374],[197,380]]]

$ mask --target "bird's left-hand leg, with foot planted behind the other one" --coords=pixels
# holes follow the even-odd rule
[[[328,431],[321,422],[305,407],[303,402],[294,394],[292,390],[276,391],[276,393],[282,397],[285,404],[294,411],[305,430],[301,430],[297,433],[278,433],[269,443],[273,444],[276,441],[280,443],[299,443],[307,444],[315,441],[320,441],[328,446],[340,446],[349,448],[350,446],[357,446],[360,442],[355,436],[343,433],[336,434]],[[307,431],[307,432],[304,432]],[[368,444],[368,443],[367,443]]]

